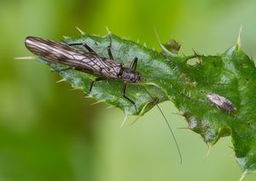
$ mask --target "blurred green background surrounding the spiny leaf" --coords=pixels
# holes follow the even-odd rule
[[[35,60],[26,36],[49,38],[106,34],[147,42],[159,49],[170,35],[182,43],[181,54],[224,52],[236,42],[255,56],[256,1],[239,0],[1,0],[0,1],[0,180],[238,180],[241,169],[230,138],[219,140],[207,157],[207,145],[171,102],[161,104],[176,133],[178,154],[157,109],[132,127],[119,129],[124,114],[108,105],[90,105],[83,93]],[[130,117],[130,122],[134,117]],[[255,180],[250,174],[246,181]]]

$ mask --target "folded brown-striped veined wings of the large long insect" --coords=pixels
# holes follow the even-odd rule
[[[84,52],[67,44],[44,40],[39,37],[26,37],[26,48],[33,54],[51,62],[74,67],[76,70],[95,73],[108,78],[119,78],[122,63]]]

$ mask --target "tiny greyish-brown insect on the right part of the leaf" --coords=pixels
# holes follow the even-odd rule
[[[224,110],[228,110],[229,112],[236,110],[236,106],[229,99],[226,99],[217,93],[208,94],[207,98],[211,100],[214,105],[217,105]]]

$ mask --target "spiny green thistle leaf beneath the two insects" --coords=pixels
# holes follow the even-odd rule
[[[119,107],[125,115],[139,116],[154,105],[171,100],[186,118],[188,128],[200,133],[208,145],[231,135],[236,161],[241,169],[246,173],[255,170],[256,69],[253,60],[239,46],[214,56],[178,56],[173,54],[170,43],[169,46],[168,43],[161,45],[163,52],[159,53],[112,34],[104,37],[84,34],[81,37],[68,37],[65,42],[86,42],[103,57],[108,57],[107,47],[111,43],[114,59],[124,62],[126,66],[131,64],[134,57],[138,58],[137,71],[143,75],[143,82],[129,84],[126,90],[126,95],[135,101],[138,111],[122,96],[122,80],[96,82],[90,97]],[[76,48],[86,51],[82,46]],[[194,60],[194,64],[191,65],[190,59]],[[55,71],[65,67],[44,59],[40,61]],[[89,91],[90,82],[96,77],[74,70],[60,71],[60,74],[73,88],[81,89],[84,93]],[[214,105],[207,99],[211,93],[229,99],[236,110],[230,112]]]

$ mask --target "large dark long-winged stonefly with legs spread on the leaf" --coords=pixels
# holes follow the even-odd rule
[[[47,59],[50,62],[70,66],[70,68],[67,69],[74,69],[98,75],[99,77],[90,83],[88,93],[90,93],[95,82],[107,79],[122,80],[124,82],[122,95],[125,99],[129,100],[137,110],[135,102],[125,95],[128,82],[138,83],[141,81],[141,74],[136,71],[137,57],[131,61],[130,68],[126,68],[123,63],[113,60],[110,46],[108,46],[108,59],[97,55],[96,52],[84,42],[65,44],[44,40],[39,37],[26,37],[25,44],[26,48],[33,54],[36,54],[43,59]],[[71,47],[73,45],[83,45],[89,52],[75,49]]]

